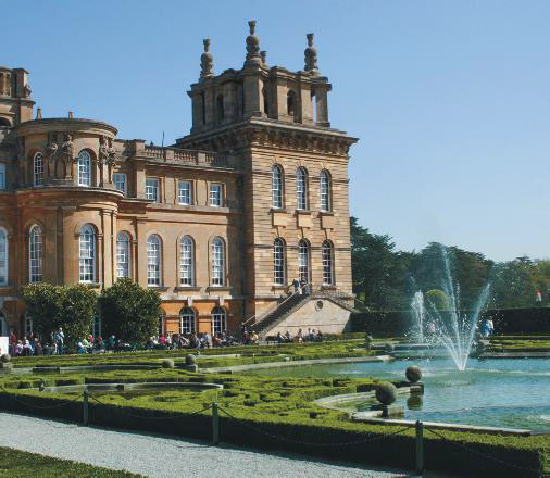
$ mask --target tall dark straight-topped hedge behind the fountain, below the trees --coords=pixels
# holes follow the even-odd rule
[[[496,334],[548,334],[550,330],[550,307],[488,310],[483,316],[492,317]],[[412,327],[410,311],[351,314],[351,329],[354,332],[367,331],[375,337],[399,337],[407,336]]]

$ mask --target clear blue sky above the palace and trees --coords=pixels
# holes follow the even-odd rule
[[[190,127],[202,38],[216,73],[303,67],[305,34],[333,84],[334,127],[361,138],[351,213],[402,250],[428,241],[493,260],[550,252],[550,2],[1,2],[0,64],[32,74],[43,115],[102,120],[170,143]]]

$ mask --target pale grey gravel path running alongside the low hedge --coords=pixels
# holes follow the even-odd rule
[[[371,470],[357,464],[323,462],[311,456],[272,454],[229,445],[210,446],[201,441],[80,427],[9,413],[0,413],[0,445],[159,478],[412,476]]]

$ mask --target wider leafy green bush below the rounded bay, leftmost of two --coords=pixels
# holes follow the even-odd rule
[[[65,345],[71,350],[90,332],[98,295],[89,287],[40,282],[25,286],[22,293],[33,326],[42,339],[63,327]]]

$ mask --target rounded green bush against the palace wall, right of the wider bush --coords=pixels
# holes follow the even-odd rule
[[[133,343],[145,343],[159,329],[161,298],[130,279],[118,279],[99,299],[102,327]]]

